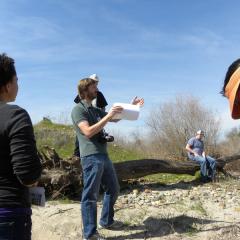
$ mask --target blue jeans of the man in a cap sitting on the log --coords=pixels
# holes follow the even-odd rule
[[[194,156],[192,160],[200,164],[200,172],[203,178],[214,178],[216,174],[216,160],[214,158],[210,156],[206,156],[205,158]]]

